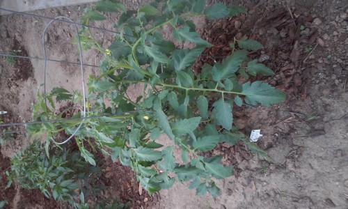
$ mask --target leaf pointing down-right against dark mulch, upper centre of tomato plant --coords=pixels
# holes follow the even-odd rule
[[[189,26],[184,26],[181,29],[175,29],[173,31],[173,37],[181,42],[187,40],[189,42],[195,43],[196,45],[203,45],[205,47],[213,46],[211,43],[200,38],[198,33],[191,32]]]

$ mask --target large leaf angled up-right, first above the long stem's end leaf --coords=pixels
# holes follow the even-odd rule
[[[228,79],[235,75],[244,60],[246,60],[246,51],[239,50],[224,59],[221,64],[214,65],[212,68],[214,81],[219,82],[221,79]]]

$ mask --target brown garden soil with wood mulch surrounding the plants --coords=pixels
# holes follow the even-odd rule
[[[287,100],[272,107],[234,107],[234,123],[245,134],[260,129],[263,136],[258,145],[272,160],[252,155],[242,143],[219,144],[205,153],[225,155],[223,164],[235,167],[234,176],[217,182],[221,195],[216,198],[196,196],[181,183],[150,196],[139,189],[132,171],[106,160],[100,182],[109,189],[90,202],[120,195],[121,201],[132,199],[133,208],[348,208],[348,1],[251,0],[233,4],[246,8],[247,14],[200,21],[200,33],[214,47],[201,54],[194,70],[228,56],[228,44],[234,37],[248,36],[264,45],[249,56],[276,74],[258,79],[285,91]],[[139,3],[126,5],[136,8]],[[85,7],[50,8],[35,11],[35,15],[77,21]],[[111,29],[115,18],[108,16],[95,25]],[[1,53],[16,50],[20,56],[43,57],[43,38],[47,57],[78,62],[77,47],[71,44],[74,27],[54,22],[42,35],[48,22],[24,15],[0,16]],[[111,44],[113,34],[93,31],[103,47]],[[90,65],[98,65],[101,59],[92,50],[83,55],[84,63]],[[1,115],[3,123],[32,120],[31,103],[43,83],[43,69],[40,60],[17,59],[12,65],[0,57],[0,111],[8,111]],[[85,79],[98,74],[93,67],[84,68],[84,72]],[[244,81],[242,77],[239,80]],[[79,90],[79,65],[47,62],[46,81],[48,91],[54,86]],[[139,93],[136,88],[130,92]],[[11,128],[24,130],[20,126]],[[0,201],[8,201],[5,208],[66,208],[38,191],[24,191],[15,185],[6,189],[4,171],[9,168],[9,157],[29,142],[24,133],[3,138]]]

